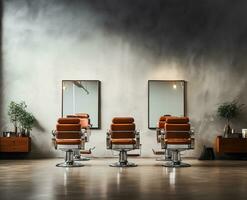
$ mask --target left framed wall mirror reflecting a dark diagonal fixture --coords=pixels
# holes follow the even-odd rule
[[[76,113],[89,114],[92,128],[100,128],[100,81],[62,81],[62,116]]]

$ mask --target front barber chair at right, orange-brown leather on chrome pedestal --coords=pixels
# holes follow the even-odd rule
[[[161,148],[168,150],[171,161],[166,167],[189,167],[181,161],[181,151],[194,149],[193,131],[191,131],[188,117],[165,117],[164,129],[160,131]],[[162,127],[163,125],[161,125]]]

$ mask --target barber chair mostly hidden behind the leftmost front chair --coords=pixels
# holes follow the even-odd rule
[[[81,124],[81,131],[84,134],[85,142],[89,142],[91,135],[91,127],[89,115],[86,113],[76,113],[74,115],[67,115],[67,118],[78,118]],[[81,156],[81,153],[91,154],[91,149],[87,151],[76,150],[74,151],[74,157],[76,161],[88,161],[90,158]]]

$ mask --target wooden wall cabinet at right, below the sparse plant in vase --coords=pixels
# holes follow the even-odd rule
[[[218,155],[224,153],[247,153],[247,138],[223,138],[218,136],[215,142]]]

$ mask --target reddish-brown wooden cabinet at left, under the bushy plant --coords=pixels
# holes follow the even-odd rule
[[[0,137],[0,152],[28,153],[31,151],[30,137]]]

